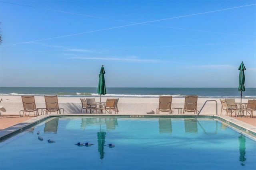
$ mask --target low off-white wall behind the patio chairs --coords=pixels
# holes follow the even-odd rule
[[[0,99],[3,101],[0,103],[0,107],[4,107],[6,112],[2,112],[2,115],[19,115],[19,111],[23,109],[21,96],[5,96],[0,95]],[[99,97],[95,98],[96,101],[100,101]],[[197,109],[202,108],[206,100],[216,100],[218,103],[218,115],[220,115],[221,103],[220,99],[199,98]],[[44,108],[45,102],[43,96],[35,96],[36,107]],[[106,101],[106,97],[102,97],[102,102]],[[145,98],[145,97],[121,97],[118,101],[118,110],[120,115],[150,115],[156,113],[158,107],[158,97]],[[242,99],[242,102],[247,103],[248,99]],[[59,107],[64,109],[65,114],[81,113],[82,103],[79,97],[58,97]],[[240,102],[240,99],[236,99],[236,102]],[[172,98],[172,108],[184,107],[184,98]],[[174,114],[178,114],[177,109],[173,109]],[[85,113],[85,111],[83,111]],[[112,112],[114,114],[114,112]],[[168,114],[160,112],[160,114]],[[186,114],[193,114],[188,113]],[[200,115],[216,115],[216,102],[209,101],[202,109]],[[222,115],[225,115],[225,111],[222,111]]]

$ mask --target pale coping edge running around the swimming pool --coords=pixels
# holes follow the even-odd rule
[[[0,142],[10,138],[11,136],[22,132],[34,125],[38,125],[42,123],[46,119],[50,117],[173,117],[173,118],[184,118],[190,117],[195,118],[195,115],[109,115],[109,114],[62,114],[62,115],[40,115],[38,117],[34,117],[12,127],[5,128],[0,130]],[[253,125],[249,125],[232,117],[224,116],[224,115],[199,115],[198,118],[208,118],[208,119],[217,119],[230,127],[233,127],[235,130],[238,130],[240,133],[247,134],[248,136],[252,137],[256,140],[256,127]]]

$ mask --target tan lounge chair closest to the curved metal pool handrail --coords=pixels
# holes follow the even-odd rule
[[[183,114],[186,112],[194,112],[194,114],[199,112],[197,110],[197,99],[198,96],[185,96]]]

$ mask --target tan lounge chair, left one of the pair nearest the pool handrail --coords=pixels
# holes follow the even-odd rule
[[[169,114],[173,114],[172,96],[159,96],[159,105],[156,109],[156,114],[159,114],[160,112],[168,112]]]

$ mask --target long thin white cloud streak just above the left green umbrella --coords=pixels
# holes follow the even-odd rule
[[[130,56],[126,58],[118,57],[70,57],[69,59],[90,59],[90,60],[114,60],[114,61],[130,61],[130,62],[163,62],[158,59],[140,59],[136,56]]]

